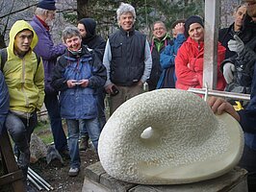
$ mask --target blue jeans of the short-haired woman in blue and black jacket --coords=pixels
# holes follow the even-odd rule
[[[98,149],[98,139],[100,130],[98,125],[97,118],[94,119],[66,119],[66,126],[68,132],[68,148],[69,148],[69,155],[70,155],[70,166],[72,168],[80,168],[81,159],[79,155],[79,122],[85,124],[88,129],[90,140],[97,151]]]

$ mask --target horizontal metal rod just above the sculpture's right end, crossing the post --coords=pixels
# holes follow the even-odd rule
[[[188,91],[197,93],[197,94],[206,94],[205,88],[190,88]],[[234,93],[234,92],[226,92],[226,91],[218,91],[218,90],[208,90],[208,96],[217,96],[217,97],[225,97],[230,99],[237,99],[243,101],[249,101],[250,95],[243,93]]]

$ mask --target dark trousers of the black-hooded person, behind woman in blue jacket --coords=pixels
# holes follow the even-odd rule
[[[104,92],[104,87],[98,88],[98,94],[97,94],[97,108],[98,108],[98,116],[97,116],[97,120],[99,122],[99,129],[100,132],[102,131],[103,127],[106,124],[106,115],[105,115],[105,96],[106,93]],[[86,124],[81,122],[82,120],[80,120],[80,137],[85,137],[86,134],[88,133]]]

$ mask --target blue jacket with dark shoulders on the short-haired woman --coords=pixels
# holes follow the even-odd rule
[[[68,80],[89,80],[89,86],[68,88]],[[61,115],[65,119],[92,119],[97,116],[96,89],[107,79],[106,68],[96,54],[83,46],[79,56],[66,51],[58,60],[51,85],[61,91]]]

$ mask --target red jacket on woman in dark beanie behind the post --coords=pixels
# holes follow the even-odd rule
[[[217,89],[223,90],[226,82],[220,72],[220,63],[225,58],[225,47],[218,42],[218,82]],[[198,44],[189,37],[180,47],[175,59],[176,88],[202,88],[203,82],[203,54],[204,43]]]

